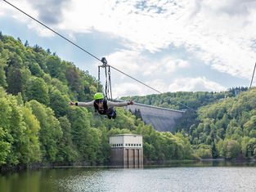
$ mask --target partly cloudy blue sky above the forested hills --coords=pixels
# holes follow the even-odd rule
[[[159,92],[249,87],[256,56],[253,0],[7,0],[92,55]],[[43,47],[97,78],[101,62],[0,2],[2,34]],[[101,80],[105,80],[101,69]],[[154,90],[111,69],[113,97]],[[254,86],[254,83],[253,83]]]

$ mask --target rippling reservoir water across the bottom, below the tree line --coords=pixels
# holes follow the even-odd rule
[[[43,167],[0,174],[1,192],[256,191],[256,163]]]

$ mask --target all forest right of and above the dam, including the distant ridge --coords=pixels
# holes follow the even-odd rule
[[[173,128],[173,134],[181,133],[200,158],[256,157],[255,87],[250,90],[236,87],[220,93],[167,92],[121,99],[131,98],[141,104],[186,111]]]

